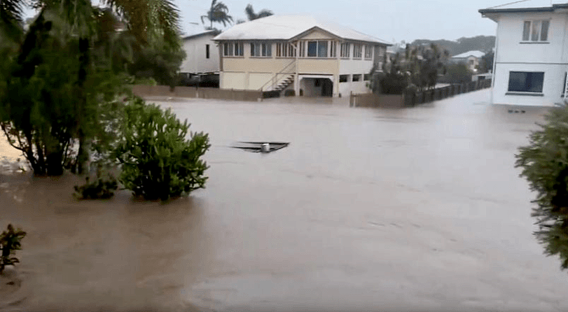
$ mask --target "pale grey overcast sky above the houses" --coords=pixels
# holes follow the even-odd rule
[[[181,10],[183,30],[195,31],[211,0],[174,0]],[[221,0],[229,14],[246,20],[244,8],[251,3],[275,14],[301,14],[333,20],[387,41],[449,39],[494,35],[497,24],[481,17],[478,10],[512,0]]]

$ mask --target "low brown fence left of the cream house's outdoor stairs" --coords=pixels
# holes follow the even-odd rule
[[[212,87],[175,87],[167,85],[134,85],[132,92],[139,97],[188,97],[196,99],[228,99],[258,101],[263,94],[257,90],[230,90]]]

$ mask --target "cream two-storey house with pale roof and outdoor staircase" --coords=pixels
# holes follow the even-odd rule
[[[221,54],[220,87],[341,97],[370,92],[373,66],[382,69],[387,46],[332,22],[272,15],[237,24],[214,38]],[[291,93],[291,91],[286,91]]]

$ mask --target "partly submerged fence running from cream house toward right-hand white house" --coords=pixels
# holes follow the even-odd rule
[[[462,85],[450,85],[422,92],[406,92],[405,94],[351,94],[349,106],[402,108],[417,104],[438,101],[457,94],[472,92],[491,87],[491,80],[478,80]]]

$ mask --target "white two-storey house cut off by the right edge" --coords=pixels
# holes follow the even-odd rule
[[[497,22],[492,103],[561,103],[568,95],[568,3],[516,1],[479,12]]]

